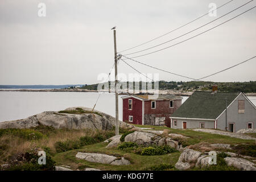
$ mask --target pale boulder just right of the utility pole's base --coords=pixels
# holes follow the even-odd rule
[[[156,134],[148,133],[145,131],[134,131],[134,133],[126,135],[125,142],[135,142],[139,145],[150,146],[150,144],[154,143],[152,138],[156,136]]]

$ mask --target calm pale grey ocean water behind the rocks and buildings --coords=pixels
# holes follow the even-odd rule
[[[92,108],[99,93],[95,92],[0,92],[0,122],[27,118],[43,111],[64,110],[67,107]],[[119,120],[122,121],[122,99],[119,96]],[[188,97],[183,97],[182,102]],[[256,105],[256,97],[249,97]],[[96,110],[115,117],[115,94],[102,93]]]

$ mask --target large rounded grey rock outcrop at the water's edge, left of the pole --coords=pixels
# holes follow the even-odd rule
[[[70,107],[67,111],[75,110],[77,107]],[[92,109],[80,107],[84,111],[91,111]],[[83,113],[83,114],[68,114],[59,113],[58,111],[44,111],[43,113],[33,115],[26,119],[19,119],[17,121],[7,121],[0,123],[0,129],[28,129],[38,125],[52,126],[56,129],[98,129],[109,130],[115,125],[115,118],[94,110],[97,113]],[[129,126],[125,122],[119,122],[121,127]]]

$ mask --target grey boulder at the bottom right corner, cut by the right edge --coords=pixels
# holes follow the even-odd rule
[[[256,171],[256,164],[246,159],[241,158],[224,158],[228,166],[234,166],[242,171]]]

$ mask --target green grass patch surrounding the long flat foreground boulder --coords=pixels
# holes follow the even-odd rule
[[[142,171],[145,168],[150,168],[152,166],[157,166],[163,163],[170,164],[172,166],[175,165],[177,160],[179,159],[180,152],[174,152],[169,155],[138,155],[134,154],[133,152],[126,152],[124,150],[118,150],[117,148],[105,148],[108,143],[101,142],[96,144],[91,144],[88,146],[84,146],[79,150],[71,150],[66,152],[61,152],[56,154],[53,159],[56,161],[57,165],[64,165],[64,166],[71,166],[72,169],[77,169],[79,166],[80,168],[90,167],[90,168],[97,168],[101,170],[108,170],[108,171],[134,171],[139,170]],[[115,166],[110,164],[101,164],[101,163],[92,163],[88,162],[83,159],[76,159],[77,152],[96,152],[108,155],[117,155],[123,156],[127,158],[129,156],[129,160],[132,160],[130,165],[124,166]]]

